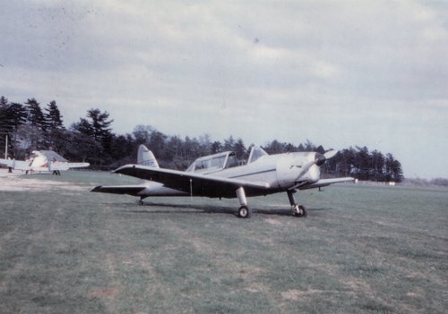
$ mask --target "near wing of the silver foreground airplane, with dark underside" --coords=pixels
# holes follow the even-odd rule
[[[211,174],[194,174],[144,165],[123,165],[116,169],[114,173],[160,182],[170,189],[191,193],[193,196],[210,198],[234,198],[236,197],[235,191],[240,187],[245,188],[247,195],[262,195],[263,191],[269,189],[269,184],[266,182],[247,182]]]

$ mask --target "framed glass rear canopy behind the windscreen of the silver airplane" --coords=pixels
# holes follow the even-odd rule
[[[212,173],[222,169],[237,166],[237,157],[233,151],[197,158],[192,165],[186,169],[187,172]]]

